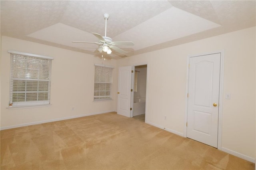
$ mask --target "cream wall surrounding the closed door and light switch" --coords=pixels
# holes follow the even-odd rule
[[[255,159],[255,28],[118,60],[118,66],[148,64],[146,121],[182,135],[188,55],[225,49],[222,149]],[[167,120],[164,120],[166,115]]]

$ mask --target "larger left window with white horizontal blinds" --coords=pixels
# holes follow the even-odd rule
[[[11,53],[9,106],[50,104],[52,57]]]

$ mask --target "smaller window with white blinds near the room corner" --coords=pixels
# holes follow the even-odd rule
[[[95,65],[94,101],[112,99],[112,67]]]

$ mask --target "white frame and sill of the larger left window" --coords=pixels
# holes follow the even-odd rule
[[[48,56],[44,56],[44,55],[37,55],[37,54],[31,54],[31,53],[23,53],[23,52],[18,52],[18,51],[8,51],[8,53],[10,53],[10,90],[9,90],[9,108],[12,108],[12,107],[33,107],[33,106],[44,106],[44,105],[50,105],[50,89],[51,89],[51,75],[52,75],[52,60],[54,59],[53,57],[48,57]],[[45,69],[42,69],[42,68],[37,68],[36,70],[38,72],[41,72],[41,73],[38,73],[38,78],[35,79],[32,79],[32,78],[26,78],[25,77],[22,77],[22,78],[18,78],[18,77],[15,77],[13,75],[13,73],[15,71],[17,71],[17,68],[13,68],[14,64],[14,58],[13,57],[16,57],[17,59],[17,56],[14,56],[14,55],[20,55],[22,57],[24,57],[24,59],[21,59],[19,61],[19,63],[22,62],[22,60],[24,60],[24,62],[27,62],[27,63],[32,63],[32,61],[37,61],[38,65],[40,65],[40,59],[43,59],[44,61],[46,61],[46,64],[47,67],[46,67],[46,70]],[[27,58],[26,58],[27,57]],[[32,61],[31,61],[32,60]],[[48,63],[49,62],[49,63]],[[44,67],[45,65],[42,65],[42,67]],[[22,65],[22,67],[24,67]],[[20,69],[20,68],[18,68]],[[26,70],[28,70],[29,68],[27,66],[25,66],[24,68],[21,68],[21,70],[24,70],[24,72],[26,72]],[[41,76],[44,76],[44,74],[48,74],[48,79],[42,79],[42,78],[39,78]],[[40,76],[39,76],[40,75]],[[24,76],[24,75],[23,75]],[[22,83],[25,83],[25,89],[24,90],[20,90],[20,89],[17,89],[16,90],[16,95],[18,95],[18,93],[20,94],[23,94],[24,93],[24,96],[27,96],[29,93],[30,94],[36,94],[37,97],[32,97],[32,99],[34,100],[27,100],[24,99],[25,101],[13,101],[14,98],[13,98],[13,95],[15,94],[14,93],[14,83],[15,82],[21,82]],[[43,85],[45,86],[44,89],[46,89],[46,91],[42,91],[40,90],[40,86],[42,85],[41,83],[43,83]],[[31,89],[27,89],[27,85],[30,84],[30,88],[32,88],[33,90],[31,91]],[[42,88],[42,87],[41,87]],[[28,93],[29,92],[29,93]],[[47,93],[47,99],[46,100],[40,100],[40,93]],[[45,94],[43,94],[45,95]],[[35,100],[36,99],[36,100]]]

